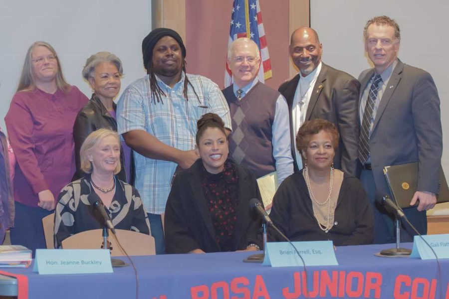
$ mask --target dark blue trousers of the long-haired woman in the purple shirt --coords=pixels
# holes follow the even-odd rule
[[[23,245],[33,251],[47,248],[42,226],[42,218],[53,213],[39,207],[30,207],[15,202],[14,227],[10,229],[12,245]]]

